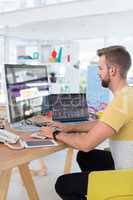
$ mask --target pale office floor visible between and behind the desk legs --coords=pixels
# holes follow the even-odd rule
[[[107,146],[108,142],[105,141],[100,146],[98,146],[98,148],[104,148]],[[77,163],[75,162],[76,153],[77,152],[75,151],[72,172],[80,171]],[[60,200],[55,192],[54,185],[57,177],[63,174],[65,156],[66,150],[50,155],[44,159],[48,168],[47,175],[34,177],[34,182],[36,184],[40,200]],[[39,162],[33,161],[30,164],[30,167],[35,170],[39,169]],[[7,200],[18,199],[28,200],[28,197],[17,169],[14,169],[11,177]]]

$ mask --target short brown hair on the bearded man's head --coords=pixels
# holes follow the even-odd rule
[[[98,49],[97,55],[99,57],[104,55],[107,60],[107,64],[119,67],[121,77],[126,78],[132,61],[129,52],[124,46],[109,46]]]

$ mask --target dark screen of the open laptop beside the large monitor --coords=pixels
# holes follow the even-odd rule
[[[71,122],[88,119],[86,94],[53,94],[49,97],[53,120]]]

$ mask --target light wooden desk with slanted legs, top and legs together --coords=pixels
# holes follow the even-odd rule
[[[28,136],[26,134],[18,133],[24,138]],[[11,171],[14,167],[18,167],[24,186],[27,190],[30,200],[39,200],[31,172],[28,167],[28,163],[32,160],[36,160],[40,157],[48,156],[52,153],[61,151],[67,148],[65,144],[59,144],[55,147],[48,148],[34,148],[23,150],[11,150],[3,144],[0,144],[0,200],[6,200],[8,186],[11,176]],[[65,173],[70,170],[73,150],[68,149],[68,156],[66,157]],[[68,165],[70,163],[70,165]]]

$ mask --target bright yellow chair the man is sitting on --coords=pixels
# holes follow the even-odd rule
[[[91,172],[87,200],[133,200],[133,169]]]

